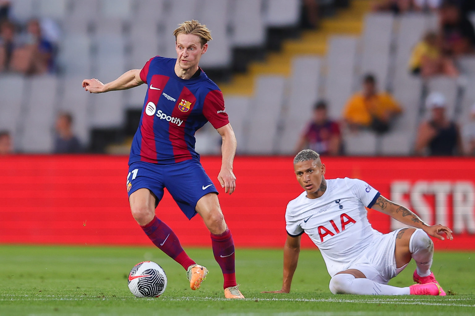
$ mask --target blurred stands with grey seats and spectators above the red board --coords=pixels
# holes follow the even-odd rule
[[[475,155],[473,0],[0,0],[0,154],[127,154],[146,87],[81,81],[176,57],[188,19],[239,154]]]

